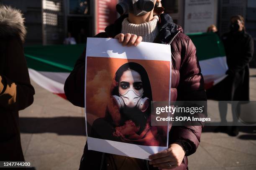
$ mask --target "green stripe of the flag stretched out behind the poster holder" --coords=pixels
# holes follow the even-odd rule
[[[217,34],[197,33],[188,36],[197,48],[198,60],[225,56],[223,44]],[[29,68],[37,71],[71,72],[84,45],[46,45],[25,47],[24,50]]]

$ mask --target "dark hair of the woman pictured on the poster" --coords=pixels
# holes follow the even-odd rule
[[[143,84],[143,97],[148,97],[150,101],[152,101],[152,91],[151,91],[151,85],[148,78],[148,73],[146,72],[145,68],[136,63],[136,62],[127,62],[123,64],[121,67],[118,68],[118,70],[115,72],[115,81],[119,82],[120,77],[122,77],[123,72],[127,70],[134,70],[138,72],[141,75],[141,81]],[[112,95],[119,95],[118,92],[118,86],[113,89]]]

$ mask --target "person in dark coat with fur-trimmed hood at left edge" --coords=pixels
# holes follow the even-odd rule
[[[23,52],[23,22],[19,10],[0,6],[0,161],[24,161],[18,111],[33,103],[35,90]]]

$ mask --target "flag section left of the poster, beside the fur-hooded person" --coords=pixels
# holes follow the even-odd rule
[[[66,98],[64,83],[80,57],[84,45],[25,47],[31,80],[50,92]]]

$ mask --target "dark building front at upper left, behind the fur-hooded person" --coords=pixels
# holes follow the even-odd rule
[[[26,45],[61,44],[70,32],[77,42],[94,35],[94,0],[0,0],[23,12]],[[92,9],[92,10],[91,10]]]

